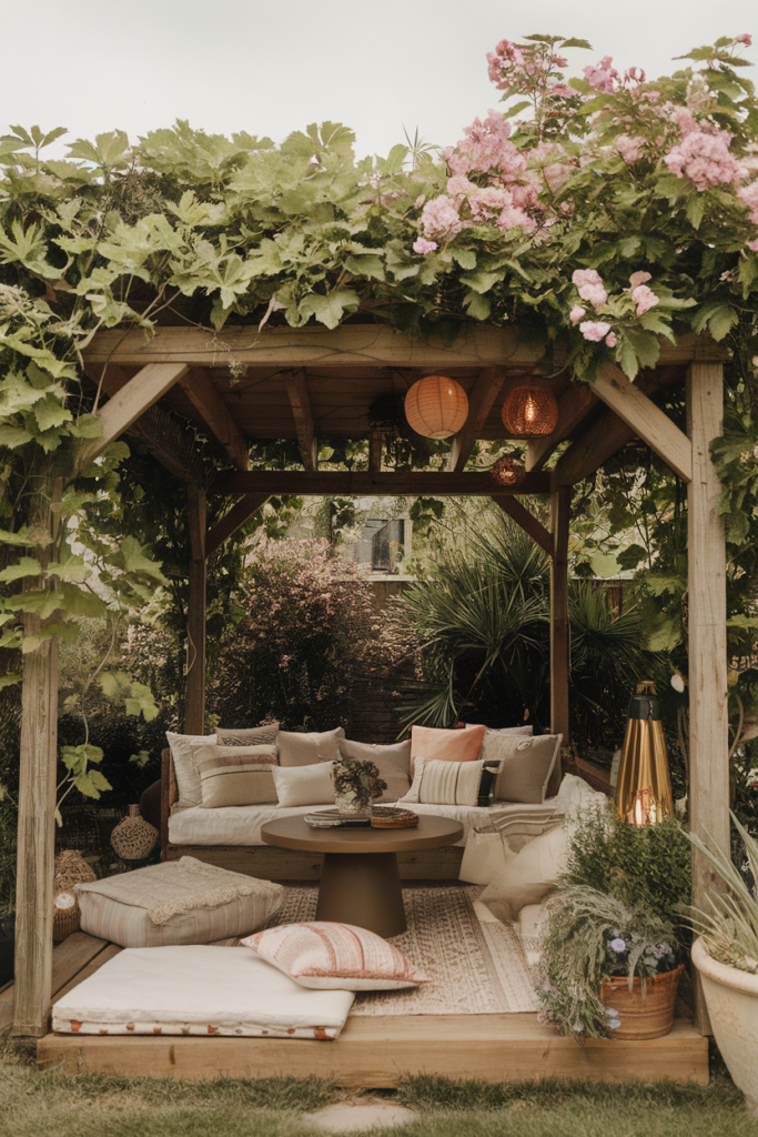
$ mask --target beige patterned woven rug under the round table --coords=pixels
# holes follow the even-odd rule
[[[317,886],[288,887],[274,924],[316,915]],[[422,987],[366,991],[351,1014],[507,1014],[536,1011],[516,927],[480,922],[476,886],[403,888],[408,930],[390,943],[430,977]]]

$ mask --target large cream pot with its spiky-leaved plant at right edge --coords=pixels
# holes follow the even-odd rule
[[[690,833],[694,847],[727,886],[710,897],[710,908],[690,908],[699,933],[692,962],[700,972],[708,1014],[734,1084],[758,1114],[758,841],[732,814],[742,839],[751,888],[722,849]]]

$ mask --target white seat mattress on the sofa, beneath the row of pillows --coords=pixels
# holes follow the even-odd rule
[[[548,798],[544,805],[522,805],[511,802],[498,802],[490,806],[470,805],[403,805],[422,816],[431,814],[438,818],[450,818],[464,827],[465,845],[472,829],[486,827],[494,821],[509,816],[526,816],[530,811],[543,813],[555,798]],[[278,805],[234,805],[222,810],[205,810],[202,806],[189,808],[172,808],[168,819],[168,840],[172,845],[265,845],[260,837],[260,827],[280,818],[297,818],[303,813],[314,813],[328,806],[299,806],[285,808]]]

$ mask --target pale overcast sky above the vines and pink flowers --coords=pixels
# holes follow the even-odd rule
[[[655,77],[742,32],[758,58],[758,0],[6,0],[2,28],[0,132],[136,139],[178,117],[281,142],[332,119],[356,131],[360,156],[386,153],[403,126],[455,143],[497,105],[485,55],[503,38],[588,39],[569,74],[610,55]]]

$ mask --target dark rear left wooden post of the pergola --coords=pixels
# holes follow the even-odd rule
[[[184,731],[205,735],[206,723],[206,492],[188,485],[190,521],[190,596],[186,613],[188,656]]]

